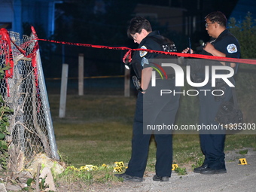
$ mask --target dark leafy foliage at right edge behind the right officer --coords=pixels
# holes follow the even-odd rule
[[[229,30],[239,41],[241,58],[255,59],[256,21],[251,17],[251,14],[248,13],[241,23],[238,23],[234,18],[231,18]],[[238,73],[235,78],[239,107],[242,109],[245,122],[254,123],[254,117],[256,116],[256,65],[239,63]]]

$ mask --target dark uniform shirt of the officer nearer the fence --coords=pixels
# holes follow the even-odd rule
[[[149,33],[139,44],[139,49],[160,50],[166,52],[176,52],[175,44],[168,38],[159,35],[157,31]],[[136,51],[133,55],[133,69],[136,72],[137,78],[141,78],[142,69],[146,67],[157,67],[148,59],[160,58],[159,53],[148,53],[148,51]]]

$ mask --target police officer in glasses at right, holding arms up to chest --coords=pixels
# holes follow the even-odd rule
[[[206,16],[206,30],[210,37],[211,41],[203,47],[201,52],[204,55],[212,56],[223,56],[231,58],[239,58],[240,47],[237,39],[227,30],[227,18],[220,11],[212,12]],[[187,53],[189,49],[183,50],[184,53]],[[199,59],[197,59],[198,61]],[[190,63],[191,71],[193,67],[197,68],[194,70],[194,81],[201,82],[204,80],[204,71],[198,67],[202,66],[203,69],[205,66],[231,66],[236,72],[237,65],[236,63],[230,62],[219,62],[219,61],[203,61],[192,62]],[[195,66],[194,66],[195,65]],[[225,74],[227,71],[219,70],[218,74]],[[229,81],[234,84],[234,79],[229,78]],[[211,79],[208,84],[204,87],[200,87],[201,90],[222,90],[223,96],[213,96],[212,94],[205,94],[200,92],[200,119],[199,122],[202,125],[216,125],[218,123],[215,121],[218,108],[221,103],[224,101],[229,101],[232,97],[232,90],[222,79],[216,79],[216,87],[212,87]],[[200,132],[200,147],[205,156],[205,160],[202,166],[194,169],[194,172],[201,174],[219,174],[226,173],[227,169],[225,166],[225,154],[224,154],[224,142],[225,142],[225,130],[203,130]]]

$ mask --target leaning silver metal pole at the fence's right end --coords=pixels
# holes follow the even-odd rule
[[[36,52],[36,61],[38,66],[38,81],[39,81],[39,84],[41,85],[40,87],[41,100],[44,107],[44,115],[46,119],[47,132],[48,132],[48,137],[50,142],[50,154],[52,155],[53,159],[59,160],[59,154],[57,153],[56,140],[55,140],[54,130],[53,130],[53,120],[50,114],[49,99],[47,96],[47,90],[46,90],[45,81],[44,81],[44,72],[41,65],[41,57],[40,57],[39,49]]]

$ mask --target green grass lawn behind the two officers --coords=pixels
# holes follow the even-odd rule
[[[62,160],[68,166],[75,166],[78,169],[85,165],[98,166],[101,169],[93,175],[87,172],[83,176],[84,179],[114,180],[114,162],[123,161],[124,166],[127,166],[130,160],[136,98],[68,95],[65,118],[58,117],[59,95],[50,95],[49,100],[56,144]],[[187,115],[187,108],[185,113],[181,108],[177,122],[188,119]],[[194,123],[197,123],[196,118]],[[227,136],[226,151],[242,148],[256,148],[256,135]],[[156,147],[152,137],[146,171],[154,171],[155,153]],[[103,169],[103,163],[110,168]],[[192,168],[203,163],[197,134],[173,136],[173,163],[178,164],[180,171],[184,171],[182,166]],[[68,178],[70,172],[64,175]]]

